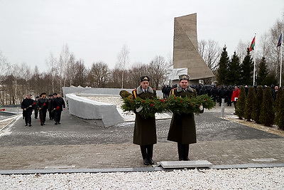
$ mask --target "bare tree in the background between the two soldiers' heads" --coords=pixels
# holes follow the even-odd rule
[[[152,86],[158,90],[165,83],[168,65],[165,58],[156,56],[148,65],[148,73],[152,80]]]

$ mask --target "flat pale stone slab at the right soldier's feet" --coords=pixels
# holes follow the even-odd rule
[[[193,160],[193,161],[167,161],[159,162],[157,167],[164,169],[178,169],[178,168],[204,168],[212,167],[212,163],[207,160]]]

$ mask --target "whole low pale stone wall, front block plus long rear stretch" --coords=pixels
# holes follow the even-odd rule
[[[133,89],[63,87],[62,90],[71,115],[82,118],[84,121],[94,125],[110,127],[124,122],[124,118],[116,110],[116,105],[96,102],[84,97],[95,95],[119,96],[121,90],[131,93]],[[163,97],[162,91],[157,90],[157,95],[158,97]]]

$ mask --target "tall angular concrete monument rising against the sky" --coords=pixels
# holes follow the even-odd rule
[[[173,68],[187,68],[191,83],[214,74],[198,53],[197,14],[175,17]]]

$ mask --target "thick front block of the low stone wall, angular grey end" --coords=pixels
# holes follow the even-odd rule
[[[70,114],[80,117],[86,122],[102,127],[110,127],[124,122],[116,110],[116,105],[96,102],[75,94],[65,94],[65,98]]]

